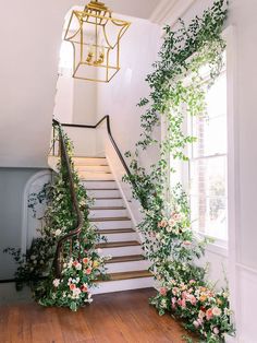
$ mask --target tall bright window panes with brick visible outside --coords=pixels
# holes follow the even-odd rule
[[[188,119],[197,142],[189,146],[189,203],[193,228],[228,239],[227,72],[207,91],[207,118]]]

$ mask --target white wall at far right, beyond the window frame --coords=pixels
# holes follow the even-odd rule
[[[195,14],[200,15],[212,1],[196,0],[184,15],[189,21]],[[233,80],[230,84],[230,97],[233,102],[233,118],[229,118],[229,134],[234,131],[234,189],[230,198],[230,249],[229,276],[232,300],[236,315],[236,342],[255,343],[257,307],[257,230],[256,230],[256,194],[257,194],[257,2],[255,0],[231,0],[227,26],[234,26],[234,54],[228,60],[233,68]],[[233,67],[235,66],[235,67]],[[231,92],[234,91],[234,94]],[[232,123],[234,122],[234,127]],[[233,152],[230,150],[229,158]],[[229,174],[229,178],[233,178]],[[232,180],[233,182],[233,180]],[[217,261],[218,255],[210,258]],[[225,261],[225,260],[224,260]],[[227,263],[227,262],[225,262]],[[216,275],[221,273],[216,264]]]

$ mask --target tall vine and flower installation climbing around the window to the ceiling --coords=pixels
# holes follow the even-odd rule
[[[160,315],[170,311],[182,318],[185,327],[199,333],[205,342],[223,342],[234,332],[227,291],[217,293],[206,281],[206,270],[195,265],[204,255],[207,239],[199,239],[191,228],[187,196],[180,184],[169,188],[168,177],[175,173],[169,157],[186,162],[185,147],[196,139],[183,130],[186,116],[206,116],[206,88],[211,87],[223,67],[225,43],[221,37],[228,14],[224,0],[196,16],[188,26],[180,20],[179,29],[164,27],[163,44],[154,72],[147,75],[148,97],[138,106],[143,133],[131,158],[133,196],[139,200],[144,220],[138,225],[144,250],[151,261],[151,271],[160,285],[150,299]],[[203,82],[203,69],[208,74]],[[161,118],[167,126],[162,143],[154,138]],[[160,159],[149,169],[140,166],[140,154],[159,144]],[[167,200],[169,194],[169,200]]]

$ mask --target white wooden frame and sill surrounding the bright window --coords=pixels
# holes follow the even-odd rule
[[[235,178],[235,149],[236,142],[235,137],[235,125],[234,125],[234,111],[235,111],[235,37],[234,37],[234,27],[231,25],[227,27],[222,37],[227,43],[227,187],[228,187],[228,240],[210,237],[205,233],[196,232],[201,237],[210,237],[215,241],[210,243],[207,247],[207,250],[213,253],[218,253],[222,257],[228,257],[229,249],[235,249],[235,227],[236,227],[236,206],[235,206],[235,196],[236,196],[236,178]],[[187,130],[186,127],[184,127]],[[167,122],[166,119],[161,119],[161,140],[164,140],[167,132]],[[186,149],[186,154],[188,153],[188,146]],[[176,175],[172,175],[172,179],[180,181],[186,193],[188,194],[189,190],[189,168],[188,163],[174,161],[171,156],[168,156],[170,166],[175,167],[178,170]],[[171,184],[170,175],[168,177],[169,185]],[[167,199],[170,199],[170,194],[167,193]]]

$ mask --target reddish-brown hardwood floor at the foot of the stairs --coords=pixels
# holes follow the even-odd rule
[[[0,307],[1,343],[181,343],[183,328],[159,317],[148,298],[154,289],[95,296],[94,304],[71,312],[37,304]]]

